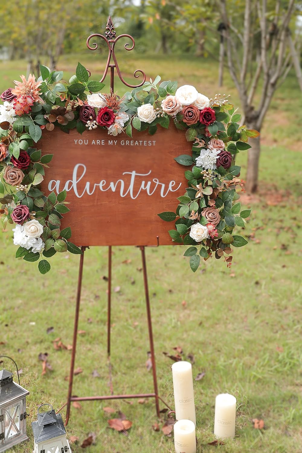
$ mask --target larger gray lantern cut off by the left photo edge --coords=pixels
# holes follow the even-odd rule
[[[7,356],[0,356],[7,357]],[[13,359],[10,359],[14,362]],[[0,453],[28,440],[26,435],[26,396],[29,391],[13,381],[13,373],[0,370]]]

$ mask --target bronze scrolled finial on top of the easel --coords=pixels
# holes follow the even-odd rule
[[[114,25],[113,25],[113,22],[112,22],[110,16],[108,18],[108,22],[107,22],[107,25],[106,25],[105,36],[102,35],[102,34],[99,34],[99,33],[95,33],[95,34],[91,34],[88,37],[88,39],[86,41],[86,44],[87,44],[87,47],[90,50],[96,50],[98,48],[98,44],[97,43],[93,43],[92,44],[93,47],[91,47],[89,45],[89,41],[91,40],[91,38],[94,38],[95,36],[97,36],[98,38],[104,39],[104,41],[106,42],[106,44],[108,46],[108,49],[109,49],[105,71],[104,71],[103,77],[101,78],[100,82],[103,82],[105,80],[105,77],[107,75],[108,69],[110,68],[110,88],[113,91],[113,87],[114,87],[114,78],[113,78],[114,77],[114,73],[113,72],[114,72],[114,68],[116,68],[116,71],[118,73],[118,76],[120,77],[120,80],[127,87],[137,88],[137,87],[141,87],[142,85],[144,85],[144,82],[146,82],[146,74],[143,71],[141,71],[140,69],[136,69],[136,71],[134,71],[133,75],[134,75],[135,78],[138,78],[139,74],[141,74],[143,76],[143,82],[139,83],[138,85],[130,85],[129,83],[125,82],[125,80],[123,79],[123,77],[121,75],[120,68],[119,68],[119,65],[117,63],[117,59],[116,59],[116,56],[115,56],[115,44],[117,43],[117,41],[120,38],[129,38],[131,40],[131,42],[132,42],[132,46],[131,47],[129,47],[130,43],[126,43],[125,46],[124,46],[126,50],[133,50],[134,49],[135,42],[134,42],[133,37],[130,36],[129,34],[120,34],[119,36],[116,37],[116,31],[114,29]],[[111,62],[111,57],[113,59],[113,63],[110,63]]]

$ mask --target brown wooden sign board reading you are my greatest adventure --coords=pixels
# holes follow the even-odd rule
[[[41,190],[48,195],[66,188],[71,211],[61,228],[71,227],[77,246],[156,245],[156,236],[160,245],[172,244],[174,222],[157,214],[175,212],[187,187],[186,167],[174,160],[191,154],[184,131],[170,124],[154,135],[133,130],[129,138],[100,128],[82,135],[55,128],[43,130],[37,147],[53,154]]]

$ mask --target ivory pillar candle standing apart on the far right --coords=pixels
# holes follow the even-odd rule
[[[235,436],[236,398],[228,393],[216,396],[214,434],[217,439]]]

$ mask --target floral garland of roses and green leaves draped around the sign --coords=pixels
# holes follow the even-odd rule
[[[235,154],[249,149],[249,137],[257,137],[255,130],[238,125],[240,115],[229,103],[229,96],[216,95],[209,99],[190,86],[177,89],[177,82],[160,82],[156,77],[142,87],[134,88],[119,97],[115,93],[101,93],[105,86],[89,80],[89,73],[78,63],[76,74],[69,82],[62,80],[61,71],[40,67],[38,80],[21,76],[14,88],[1,94],[0,105],[0,217],[5,227],[15,224],[14,244],[19,246],[16,258],[38,261],[42,274],[50,270],[48,260],[57,252],[81,254],[81,249],[68,239],[70,227],[60,229],[62,215],[69,212],[62,191],[48,197],[40,190],[45,168],[53,154],[41,154],[34,148],[42,130],[53,130],[55,125],[68,133],[77,128],[97,127],[109,135],[126,133],[132,128],[149,130],[153,135],[158,125],[168,129],[173,120],[177,129],[185,130],[193,142],[192,156],[175,158],[178,164],[190,167],[185,171],[188,181],[186,193],[178,197],[176,212],[162,212],[158,216],[167,222],[175,221],[169,231],[174,242],[190,246],[185,256],[190,257],[195,272],[200,257],[207,260],[215,253],[224,256],[230,267],[231,246],[241,247],[247,241],[233,235],[235,226],[244,227],[250,210],[240,211],[237,186],[240,167],[233,165]],[[158,86],[159,84],[159,86]],[[199,250],[197,250],[197,246]]]

